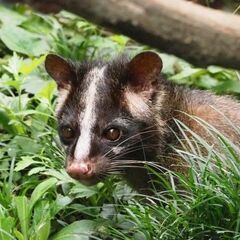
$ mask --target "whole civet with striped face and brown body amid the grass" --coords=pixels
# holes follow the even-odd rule
[[[237,141],[230,123],[240,123],[237,101],[176,86],[160,76],[161,69],[162,61],[153,52],[107,63],[77,63],[47,56],[46,70],[59,90],[59,135],[67,146],[70,176],[93,184],[121,172],[141,190],[149,182],[143,162],[185,171],[186,163],[171,147],[178,147],[176,136],[182,137],[174,119],[208,138],[190,115]]]

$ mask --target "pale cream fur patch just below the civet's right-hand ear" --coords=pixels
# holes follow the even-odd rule
[[[134,117],[142,119],[150,116],[151,111],[146,103],[147,100],[144,99],[144,97],[130,90],[126,90],[125,98],[127,101],[129,111]]]

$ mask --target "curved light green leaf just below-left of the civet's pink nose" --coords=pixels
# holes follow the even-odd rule
[[[56,178],[49,178],[38,184],[38,186],[34,189],[30,199],[30,209],[32,209],[34,204],[43,196],[43,194],[48,191],[48,189],[56,185],[56,183]]]

